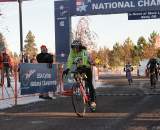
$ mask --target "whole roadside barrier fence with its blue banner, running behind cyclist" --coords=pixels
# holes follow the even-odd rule
[[[20,72],[18,72],[17,65],[13,72],[10,73],[11,87],[7,87],[6,75],[1,74],[2,85],[0,87],[0,101],[8,102],[9,100],[11,105],[17,105],[19,104],[18,99],[38,97],[40,92],[48,91],[53,95],[67,95],[70,91],[71,84],[68,83],[68,81],[67,84],[63,82],[63,67],[63,64],[58,63],[52,64],[52,68],[49,69],[47,64],[23,63],[20,65]],[[97,80],[96,71],[96,68],[94,68],[93,83]],[[25,80],[22,79],[23,76],[29,76],[28,79],[26,78],[26,80],[29,81],[28,86],[25,86]]]

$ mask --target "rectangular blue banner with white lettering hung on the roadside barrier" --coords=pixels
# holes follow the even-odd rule
[[[48,64],[30,64],[20,65],[20,83],[21,94],[34,94],[41,92],[56,91],[56,65],[52,68]]]

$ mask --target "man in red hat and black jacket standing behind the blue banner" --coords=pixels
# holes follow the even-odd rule
[[[48,53],[48,49],[45,45],[41,46],[41,53],[37,55],[36,59],[38,63],[49,63],[49,67],[53,63],[53,55]],[[40,93],[39,98],[52,99],[48,93]]]

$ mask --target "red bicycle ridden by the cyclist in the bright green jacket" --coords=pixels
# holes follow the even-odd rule
[[[86,86],[86,74],[80,71],[72,71],[75,83],[72,86],[72,105],[75,113],[79,117],[83,117],[87,111],[87,108],[94,112],[95,109],[90,106],[90,94],[89,88]]]

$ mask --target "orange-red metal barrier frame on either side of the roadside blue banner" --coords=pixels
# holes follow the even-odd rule
[[[63,93],[63,82],[62,82],[62,73],[63,65],[56,63],[57,68],[57,91],[55,93],[50,92],[50,94],[61,95]],[[18,99],[26,97],[38,97],[39,93],[21,95],[21,88],[19,82],[19,72],[18,68],[14,69],[11,77],[11,87],[7,87],[6,75],[2,75],[2,85],[0,87],[0,106],[2,103],[9,102],[10,106],[17,105]],[[38,97],[39,98],[39,97]],[[0,108],[1,109],[1,108]]]

